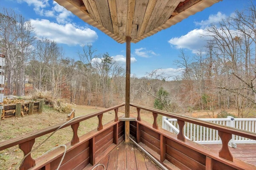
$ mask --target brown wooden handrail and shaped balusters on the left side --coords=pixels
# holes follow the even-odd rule
[[[81,121],[84,121],[84,120],[87,120],[87,119],[90,119],[92,117],[97,116],[98,117],[98,128],[97,128],[97,130],[100,131],[100,130],[103,129],[103,125],[102,125],[103,113],[107,113],[108,111],[114,110],[115,111],[114,122],[117,122],[118,121],[118,108],[122,107],[122,106],[124,106],[124,103],[119,104],[117,106],[110,107],[108,109],[104,109],[102,111],[97,111],[95,113],[80,116],[80,117],[74,119],[73,121],[70,121],[69,123],[67,123],[66,125],[61,127],[60,129],[71,126],[71,128],[73,130],[73,137],[72,137],[72,140],[70,142],[70,145],[71,146],[76,145],[80,141],[80,137],[78,137],[78,127],[79,127],[79,123]],[[46,129],[42,129],[42,130],[39,130],[39,131],[36,131],[36,132],[31,132],[31,133],[28,133],[26,135],[22,135],[22,136],[14,138],[14,139],[10,139],[10,140],[1,142],[0,143],[0,150],[4,150],[4,149],[10,148],[10,147],[13,147],[15,145],[19,145],[19,148],[24,152],[24,156],[25,156],[26,154],[28,154],[32,150],[32,147],[34,145],[34,142],[35,142],[36,138],[41,137],[43,135],[46,135],[48,133],[52,133],[52,132],[56,131],[56,129],[58,129],[62,125],[63,125],[63,123],[60,123],[60,124],[54,125],[52,127],[48,127]],[[118,127],[116,127],[116,128],[117,128],[117,130],[116,130],[116,133],[114,132],[114,140],[112,140],[112,141],[114,141],[115,144],[118,143]],[[94,157],[95,149],[93,149],[95,147],[95,139],[92,138],[92,139],[89,139],[89,140],[90,140],[90,146],[89,147],[91,147],[89,149],[90,150],[90,163],[93,165],[95,163],[95,157]],[[33,166],[35,166],[35,164],[36,164],[36,161],[31,157],[31,154],[29,154],[24,159],[22,164],[20,165],[20,169],[21,170],[27,170],[27,169],[32,168]]]

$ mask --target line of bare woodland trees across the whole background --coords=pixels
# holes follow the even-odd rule
[[[195,56],[180,49],[174,61],[181,76],[153,70],[131,78],[130,102],[174,113],[235,108],[246,117],[256,107],[256,6],[236,11],[207,28],[208,44]],[[125,68],[92,45],[78,50],[78,61],[49,39],[36,39],[30,21],[3,9],[0,53],[6,56],[7,94],[25,94],[25,77],[33,88],[52,92],[70,103],[110,107],[125,101]]]

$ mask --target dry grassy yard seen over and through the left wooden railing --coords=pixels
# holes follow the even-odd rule
[[[96,108],[93,106],[72,106],[72,108],[76,109],[76,117],[104,109],[101,107]],[[120,115],[122,115],[122,113],[118,113],[118,116]],[[114,117],[114,111],[104,113],[102,123],[105,124],[109,121],[112,121]],[[11,117],[4,119],[0,124],[0,141],[12,139],[14,137],[18,137],[32,131],[37,131],[39,129],[44,129],[58,123],[64,123],[66,122],[66,118],[67,114],[59,113],[53,109],[49,109],[49,107],[45,107],[42,114],[25,115],[24,117],[20,118]],[[97,117],[82,121],[78,128],[78,136],[84,135],[84,133],[96,129],[97,126]],[[46,139],[49,135],[50,134],[36,138],[34,147],[42,143],[42,141],[44,141],[44,139]],[[46,143],[32,152],[32,157],[38,158],[44,154],[44,152],[58,145],[63,145],[70,142],[72,135],[73,133],[71,127],[60,129],[48,141],[46,141]],[[18,145],[0,151],[0,170],[15,168],[16,164],[19,163],[22,158],[23,153],[20,149],[18,149]]]

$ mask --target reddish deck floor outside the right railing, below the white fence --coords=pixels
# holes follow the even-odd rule
[[[204,146],[216,152],[222,147],[221,144],[207,144]],[[256,165],[256,144],[236,144],[236,146],[236,148],[229,147],[234,158]]]

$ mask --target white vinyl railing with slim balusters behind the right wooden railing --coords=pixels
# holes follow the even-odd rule
[[[219,125],[225,125],[229,127],[235,127],[245,131],[250,131],[256,133],[256,119],[244,119],[244,118],[234,118],[228,116],[227,118],[221,119],[200,119],[203,121],[210,121],[212,123],[217,123]],[[168,119],[167,117],[162,117],[162,128],[170,131],[172,133],[179,133],[179,125],[177,119]],[[218,135],[218,131],[208,127],[203,127],[193,123],[186,122],[184,125],[184,135],[186,139],[190,139],[196,143],[200,144],[218,144],[222,143]],[[230,140],[230,145],[235,147],[236,143],[256,143],[255,140],[248,139],[245,137],[240,137],[237,135],[232,135]]]

